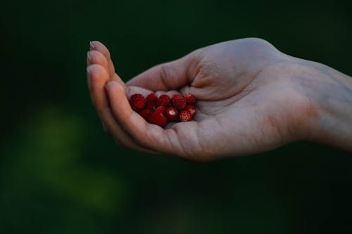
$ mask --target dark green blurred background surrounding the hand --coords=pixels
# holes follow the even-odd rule
[[[261,37],[352,74],[351,1],[6,1],[0,233],[351,233],[352,157],[294,143],[194,164],[106,136],[89,41],[127,81],[220,41]]]

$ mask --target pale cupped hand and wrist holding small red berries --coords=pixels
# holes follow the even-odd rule
[[[352,78],[288,56],[263,39],[200,48],[127,83],[108,48],[92,41],[87,79],[104,129],[134,150],[209,161],[313,141],[352,152]],[[128,98],[151,92],[193,93],[194,120],[165,129],[149,124]]]

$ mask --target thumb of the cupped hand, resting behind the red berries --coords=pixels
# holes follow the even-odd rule
[[[192,82],[195,76],[198,51],[169,63],[151,67],[126,84],[142,86],[151,91],[177,90]]]

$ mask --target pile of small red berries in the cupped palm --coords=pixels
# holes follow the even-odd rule
[[[141,115],[147,122],[164,127],[168,122],[191,121],[196,114],[196,97],[187,93],[184,96],[175,94],[170,96],[163,94],[159,97],[150,93],[146,98],[140,93],[130,97],[132,110]]]

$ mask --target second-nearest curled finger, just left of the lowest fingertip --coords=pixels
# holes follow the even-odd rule
[[[108,131],[113,134],[118,143],[128,148],[153,152],[135,143],[132,138],[116,123],[108,104],[108,98],[104,86],[108,81],[108,72],[101,65],[89,65],[87,67],[87,79],[92,103],[101,117]],[[156,152],[153,152],[156,153]]]

